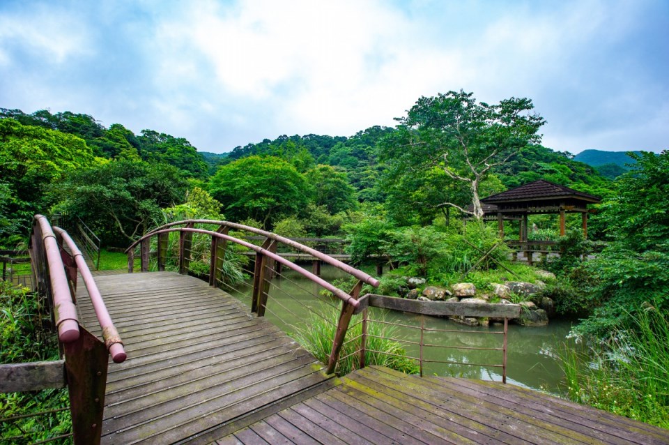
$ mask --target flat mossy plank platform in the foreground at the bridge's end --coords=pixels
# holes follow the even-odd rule
[[[370,367],[214,443],[669,444],[669,430],[514,385]]]

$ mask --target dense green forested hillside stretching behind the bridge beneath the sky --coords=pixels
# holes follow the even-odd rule
[[[194,187],[220,202],[224,218],[268,229],[283,222],[286,234],[339,235],[374,206],[397,225],[429,224],[445,213],[444,202],[467,206],[466,187],[443,170],[393,167],[380,147],[397,132],[374,126],[351,137],[282,135],[229,153],[199,153],[183,137],[135,135],[121,123],[105,128],[88,114],[0,109],[0,239],[12,246],[24,239],[33,213],[63,211],[123,246]],[[481,193],[539,178],[594,195],[610,188],[567,153],[529,144],[486,174]]]

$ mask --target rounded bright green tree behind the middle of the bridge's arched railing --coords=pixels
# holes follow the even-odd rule
[[[305,176],[286,160],[249,156],[220,167],[210,179],[209,193],[231,220],[253,218],[268,228],[303,209],[311,190]]]

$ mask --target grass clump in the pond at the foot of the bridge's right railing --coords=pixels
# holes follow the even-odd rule
[[[312,314],[304,326],[293,326],[295,331],[290,335],[316,359],[328,363],[338,321],[339,312],[334,309],[321,315]],[[406,350],[399,342],[390,340],[396,334],[394,326],[374,323],[373,320],[367,322],[365,365],[385,366],[405,374],[418,374],[418,363],[406,356]],[[360,367],[360,354],[357,351],[360,350],[361,335],[362,323],[351,324],[339,353],[338,375],[346,375]]]

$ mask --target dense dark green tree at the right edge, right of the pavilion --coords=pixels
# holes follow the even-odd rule
[[[582,333],[624,329],[647,304],[669,311],[669,151],[630,156],[637,163],[601,207],[613,241],[586,263],[590,298],[600,307],[578,326]]]

